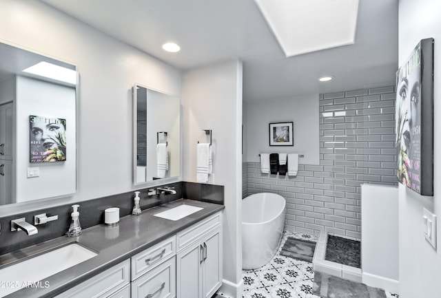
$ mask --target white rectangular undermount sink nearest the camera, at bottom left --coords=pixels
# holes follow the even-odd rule
[[[0,288],[0,297],[24,288],[27,284],[41,281],[76,264],[80,264],[98,255],[77,243],[68,244],[25,259],[0,269],[0,281],[5,287]],[[8,286],[8,284],[10,286]],[[41,286],[45,286],[43,281]]]

